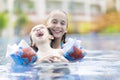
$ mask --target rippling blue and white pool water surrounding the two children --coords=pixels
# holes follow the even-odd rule
[[[13,40],[6,41],[4,46],[0,46],[0,80],[120,80],[120,39],[108,36],[81,39],[88,49],[81,62],[31,66],[11,64],[5,58],[5,44]]]

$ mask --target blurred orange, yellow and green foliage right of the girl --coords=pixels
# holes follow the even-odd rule
[[[69,17],[72,20],[71,16]],[[91,32],[120,33],[120,12],[117,12],[115,8],[111,8],[105,14],[96,16],[95,20],[91,22],[71,21],[68,27],[68,33],[74,32],[80,34]]]

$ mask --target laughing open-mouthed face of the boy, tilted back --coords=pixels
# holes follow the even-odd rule
[[[37,25],[33,27],[30,35],[33,43],[49,40],[49,32],[45,25]]]

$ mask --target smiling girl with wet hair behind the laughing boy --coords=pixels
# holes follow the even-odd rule
[[[51,46],[53,48],[61,48],[61,45],[65,43],[67,33],[67,14],[60,10],[52,11],[48,15],[46,24],[55,38],[55,40],[51,43]]]

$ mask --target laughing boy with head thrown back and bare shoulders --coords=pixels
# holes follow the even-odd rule
[[[53,49],[50,46],[51,40],[54,39],[50,35],[45,25],[37,25],[32,28],[30,33],[32,47],[37,47],[37,62],[68,62],[63,56],[62,49]]]

